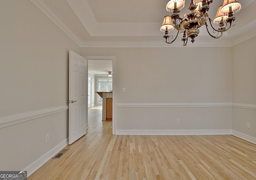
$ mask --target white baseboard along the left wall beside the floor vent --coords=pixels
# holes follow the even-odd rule
[[[27,171],[27,176],[30,176],[33,174],[36,170],[38,170],[44,163],[46,163],[50,158],[52,158],[55,154],[57,154],[60,150],[62,150],[68,143],[68,138],[60,142],[57,146],[46,152],[44,155],[42,155],[40,158],[32,162],[30,165],[28,165],[26,168],[24,168],[24,171]]]

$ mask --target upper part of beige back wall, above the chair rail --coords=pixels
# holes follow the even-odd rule
[[[232,101],[229,47],[81,48],[81,54],[116,55],[117,103]]]

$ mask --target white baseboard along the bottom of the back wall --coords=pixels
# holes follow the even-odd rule
[[[116,135],[231,135],[232,129],[116,130]]]

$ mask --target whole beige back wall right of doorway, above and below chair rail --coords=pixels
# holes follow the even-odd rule
[[[117,132],[231,129],[231,107],[204,107],[232,102],[231,48],[82,48],[81,54],[116,55]]]

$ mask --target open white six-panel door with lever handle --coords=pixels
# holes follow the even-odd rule
[[[87,81],[87,60],[69,51],[68,144],[86,134]]]

